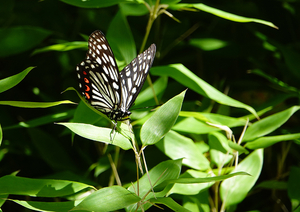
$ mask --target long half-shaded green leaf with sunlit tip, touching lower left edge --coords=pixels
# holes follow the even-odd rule
[[[67,181],[30,179],[6,175],[0,178],[0,194],[28,195],[35,197],[63,197],[73,195],[83,189],[94,189],[92,186]]]

